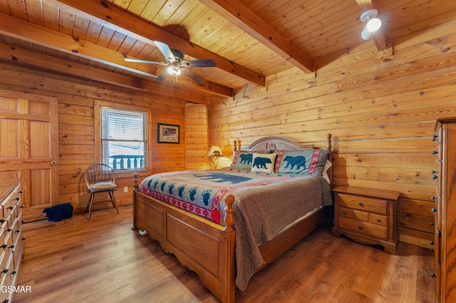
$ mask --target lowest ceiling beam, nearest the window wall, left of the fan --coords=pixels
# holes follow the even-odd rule
[[[86,66],[80,63],[69,62],[61,58],[49,60],[49,56],[26,51],[13,46],[6,46],[0,43],[0,61],[14,64],[22,64],[28,67],[40,68],[43,71],[53,71],[70,76],[80,77],[83,80],[93,80],[101,83],[113,84],[115,86],[133,88],[139,91],[150,93],[151,96],[161,98],[175,98],[182,101],[194,101],[196,103],[207,103],[207,96],[201,91],[190,90],[185,86],[164,86],[154,81],[141,81],[138,78],[123,76],[110,71],[103,71],[100,68]]]

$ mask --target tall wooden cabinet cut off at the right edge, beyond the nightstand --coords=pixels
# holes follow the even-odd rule
[[[437,155],[439,170],[432,175],[437,180],[435,215],[435,295],[437,302],[456,302],[456,118],[437,120]]]

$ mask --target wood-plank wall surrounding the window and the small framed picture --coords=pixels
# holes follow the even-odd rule
[[[162,173],[185,169],[185,102],[162,99],[128,91],[124,88],[101,85],[81,78],[47,73],[24,66],[0,62],[0,89],[53,96],[58,99],[58,170],[59,202],[71,202],[76,212],[85,209],[88,194],[83,173],[97,162],[95,155],[94,104],[105,101],[112,106],[135,106],[150,111],[152,133],[150,167],[147,172]],[[157,123],[181,125],[180,144],[157,143]],[[132,202],[133,177],[131,173],[117,173],[120,205]],[[128,192],[123,188],[128,187]]]

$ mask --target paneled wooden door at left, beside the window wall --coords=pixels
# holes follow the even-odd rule
[[[0,91],[0,180],[21,179],[24,220],[58,204],[56,98]]]

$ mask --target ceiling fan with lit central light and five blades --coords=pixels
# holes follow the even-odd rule
[[[203,59],[203,60],[189,60],[183,61],[184,54],[182,51],[178,49],[173,49],[167,46],[166,43],[162,43],[160,41],[154,41],[155,45],[160,52],[165,56],[166,62],[159,62],[159,61],[147,61],[147,60],[140,60],[140,59],[131,59],[125,58],[125,61],[128,62],[138,62],[138,63],[150,63],[150,64],[157,64],[160,66],[167,66],[167,68],[160,73],[160,75],[155,78],[155,81],[162,81],[165,80],[167,76],[174,76],[177,77],[181,73],[184,73],[185,76],[189,77],[193,81],[197,83],[202,83],[205,81],[202,76],[199,76],[197,73],[190,71],[187,67],[215,67],[215,61],[212,59]]]

